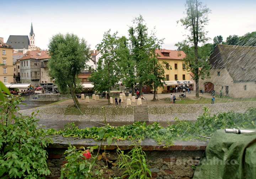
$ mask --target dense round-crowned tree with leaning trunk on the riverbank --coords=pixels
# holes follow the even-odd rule
[[[49,76],[55,79],[55,83],[61,91],[69,88],[74,103],[80,107],[75,96],[76,81],[81,70],[86,67],[86,62],[90,59],[90,46],[84,39],[77,35],[57,34],[53,35],[49,42],[50,59]],[[75,105],[75,106],[76,106]]]

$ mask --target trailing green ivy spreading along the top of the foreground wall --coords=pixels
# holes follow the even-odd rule
[[[250,128],[256,129],[256,108],[250,108],[245,113],[220,112],[218,114],[210,115],[208,108],[204,107],[204,113],[198,117],[195,123],[187,120],[175,119],[174,125],[169,125],[166,128],[160,126],[155,122],[153,125],[146,125],[145,122],[134,122],[133,125],[111,127],[107,125],[104,128],[91,127],[86,129],[79,129],[74,127],[74,123],[68,124],[62,131],[52,131],[53,134],[62,134],[64,137],[80,137],[80,138],[94,138],[99,140],[107,139],[111,136],[115,140],[126,140],[129,136],[133,138],[151,138],[159,144],[164,143],[169,146],[174,140],[204,140],[204,138],[196,135],[211,137],[217,129],[224,128]],[[106,134],[103,134],[104,129]],[[99,134],[101,131],[101,134]],[[109,135],[108,135],[109,134]],[[195,134],[195,135],[193,135]]]

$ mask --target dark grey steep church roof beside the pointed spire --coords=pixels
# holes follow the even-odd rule
[[[7,42],[7,45],[11,45],[14,49],[28,49],[29,39],[27,35],[10,35]]]

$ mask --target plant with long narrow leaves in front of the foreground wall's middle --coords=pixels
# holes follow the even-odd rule
[[[133,178],[140,178],[140,179],[147,179],[147,173],[149,173],[151,177],[151,172],[148,169],[150,166],[148,162],[146,162],[146,154],[142,150],[142,147],[140,146],[140,140],[138,139],[138,142],[130,136],[130,141],[132,142],[133,146],[132,150],[128,152],[128,154],[124,154],[124,151],[121,149],[117,149],[118,154],[118,164],[119,169],[125,168],[126,170],[123,172],[122,177],[125,177],[126,175],[129,176],[128,179]]]

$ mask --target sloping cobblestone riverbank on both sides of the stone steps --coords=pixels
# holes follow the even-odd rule
[[[235,103],[217,103],[217,104],[190,104],[190,105],[151,105],[148,106],[149,121],[173,121],[175,117],[181,120],[196,120],[199,115],[203,113],[203,107],[206,106],[211,114],[218,112],[245,112],[250,107],[256,108],[256,101],[251,102],[235,102]],[[32,109],[21,110],[25,115],[30,115],[33,111],[38,111],[38,119],[44,120],[61,120],[61,121],[103,121],[103,114],[94,115],[64,115],[68,105],[53,105],[46,107],[38,107]],[[133,108],[133,106],[129,106]],[[93,109],[92,109],[93,110]],[[115,122],[132,122],[134,120],[132,115],[106,115],[108,121]]]

